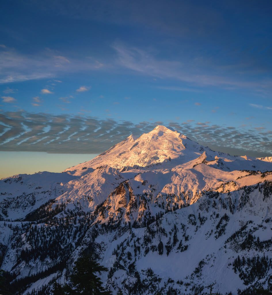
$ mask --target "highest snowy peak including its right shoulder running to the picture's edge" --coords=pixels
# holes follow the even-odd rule
[[[204,152],[207,161],[214,160],[218,162],[220,159],[224,162],[248,160],[248,162],[243,164],[240,164],[240,162],[232,163],[231,169],[233,170],[239,168],[239,165],[243,165],[244,169],[246,167],[257,170],[258,168],[264,169],[263,161],[269,162],[265,168],[271,167],[270,162],[272,161],[272,157],[234,157],[226,153],[215,152],[208,147],[204,147],[190,140],[172,128],[158,125],[151,132],[144,133],[139,138],[130,135],[93,160],[68,168],[65,171],[75,173],[75,171],[81,169],[97,168],[103,165],[117,169],[122,168],[123,170],[133,167],[138,169],[149,168],[149,166],[155,164],[161,165],[161,168],[169,168],[196,160]],[[170,161],[171,163],[169,163]]]

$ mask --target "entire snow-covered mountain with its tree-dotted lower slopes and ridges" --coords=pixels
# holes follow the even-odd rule
[[[157,126],[63,173],[3,179],[0,196],[0,264],[23,294],[69,283],[86,248],[113,294],[272,289],[271,157]]]

